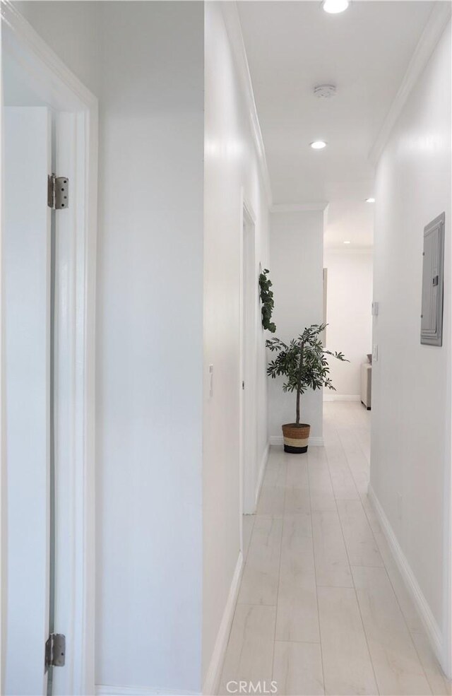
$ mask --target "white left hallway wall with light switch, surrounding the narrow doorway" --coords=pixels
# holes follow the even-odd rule
[[[220,3],[206,4],[204,365],[213,365],[213,397],[204,390],[203,676],[239,558],[239,273],[242,191],[256,216],[258,265],[268,264],[268,204]],[[265,464],[265,336],[256,328],[258,468]],[[257,481],[255,482],[257,483]]]

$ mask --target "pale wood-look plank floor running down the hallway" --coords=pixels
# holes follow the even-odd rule
[[[360,403],[326,402],[324,447],[271,449],[221,694],[240,680],[286,696],[451,692],[367,497],[369,440]]]

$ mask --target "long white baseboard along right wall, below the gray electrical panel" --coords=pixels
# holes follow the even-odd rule
[[[417,612],[419,613],[422,623],[424,624],[424,628],[427,632],[427,636],[429,637],[429,641],[432,644],[434,653],[436,654],[436,657],[439,659],[441,663],[441,661],[444,660],[444,639],[441,629],[439,625],[436,623],[436,619],[434,618],[432,610],[429,607],[429,603],[427,602],[427,599],[424,597],[424,594],[422,592],[422,589],[420,588],[419,583],[417,582],[415,574],[412,572],[408,559],[406,558],[400,544],[398,543],[397,537],[393,531],[393,528],[391,527],[391,523],[386,517],[386,513],[384,512],[383,507],[381,507],[381,503],[379,502],[379,499],[376,497],[375,491],[370,484],[368,495],[369,500],[371,501],[371,504],[376,512],[376,516],[379,519],[381,529],[383,529],[386,541],[388,542],[389,548],[391,549],[393,558],[396,561],[398,570],[400,571],[400,574],[403,578],[403,582],[405,582],[405,586],[407,587],[408,592],[410,593],[412,601],[415,603],[415,607],[417,608]]]

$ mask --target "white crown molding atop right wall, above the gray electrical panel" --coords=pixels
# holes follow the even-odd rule
[[[398,88],[396,98],[393,100],[391,107],[386,114],[386,118],[383,121],[383,126],[379,131],[378,136],[371,147],[369,152],[369,160],[371,163],[376,165],[381,153],[383,152],[384,146],[388,142],[388,138],[391,135],[391,131],[396,124],[398,117],[400,116],[405,103],[410,96],[413,87],[420,78],[424,67],[427,65],[432,53],[436,48],[436,45],[446,28],[448,20],[451,18],[451,3],[440,0],[435,2],[432,12],[429,15],[427,24],[421,34],[420,40],[417,42],[415,52],[412,54],[410,64],[403,77],[402,83]]]

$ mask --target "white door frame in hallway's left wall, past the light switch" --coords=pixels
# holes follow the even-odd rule
[[[244,399],[244,390],[242,389],[242,380],[244,379],[243,365],[244,365],[244,355],[245,342],[244,342],[244,288],[245,288],[245,278],[244,278],[244,228],[248,226],[252,233],[254,234],[254,254],[251,258],[250,267],[256,275],[256,216],[254,214],[253,208],[247,201],[244,191],[242,190],[241,196],[241,210],[240,210],[240,272],[239,272],[239,336],[240,336],[240,350],[239,350],[239,515],[240,515],[240,548],[243,551],[243,514],[254,514],[256,512],[256,492],[250,490],[252,480],[251,477],[246,477],[247,473],[244,466],[244,447],[243,447],[243,435],[244,435],[244,419],[246,418],[245,411],[251,414],[251,419],[248,418],[248,422],[251,422],[251,431],[254,433],[254,447],[253,456],[256,460],[257,456],[257,418],[256,418],[256,374],[249,379],[249,389],[247,390],[246,401]],[[251,268],[250,268],[251,270]],[[256,293],[257,293],[257,278],[256,278]],[[256,307],[251,313],[251,326],[256,326]],[[256,336],[254,336],[256,339]],[[251,344],[251,365],[254,363],[257,373],[257,353],[256,353],[256,341]],[[254,468],[256,470],[256,461],[254,461]],[[251,472],[252,473],[252,472]],[[246,487],[244,482],[248,478],[249,484]],[[245,502],[246,495],[246,502]]]

